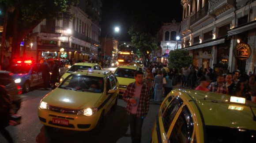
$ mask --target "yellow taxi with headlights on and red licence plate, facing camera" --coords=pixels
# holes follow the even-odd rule
[[[74,72],[43,97],[38,117],[46,129],[101,131],[105,115],[117,107],[118,93],[118,81],[110,71]]]

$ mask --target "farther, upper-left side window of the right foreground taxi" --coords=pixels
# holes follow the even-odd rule
[[[173,99],[173,101],[167,107],[166,111],[163,113],[162,118],[166,132],[168,131],[173,121],[173,118],[175,117],[177,111],[179,110],[182,104],[183,101],[181,100],[181,98],[175,97],[175,99]]]

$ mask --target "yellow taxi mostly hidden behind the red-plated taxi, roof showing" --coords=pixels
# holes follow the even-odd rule
[[[88,69],[91,68],[93,70],[102,70],[102,67],[99,64],[95,64],[95,63],[85,63],[85,62],[81,62],[81,63],[75,63],[73,64],[68,70],[67,72],[64,73],[64,75],[61,76],[60,78],[60,82],[62,82],[68,75],[70,75],[73,72],[77,72],[78,70],[81,69]]]

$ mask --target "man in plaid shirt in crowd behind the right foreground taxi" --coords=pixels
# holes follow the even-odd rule
[[[226,84],[224,83],[223,75],[218,75],[217,82],[211,82],[211,84],[207,87],[207,89],[215,93],[229,94],[229,90],[226,87]]]

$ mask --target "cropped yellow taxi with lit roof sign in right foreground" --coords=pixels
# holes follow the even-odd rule
[[[245,98],[175,89],[160,105],[151,143],[256,143],[255,113]]]

